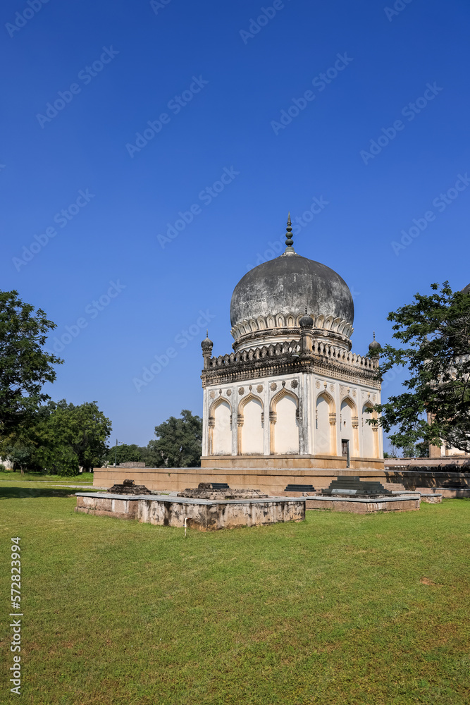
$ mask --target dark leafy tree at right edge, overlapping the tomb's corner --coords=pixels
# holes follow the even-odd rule
[[[393,338],[404,347],[385,345],[369,353],[379,359],[378,377],[397,364],[409,371],[406,391],[373,410],[385,431],[393,430],[390,440],[399,448],[418,446],[425,453],[429,444],[446,441],[468,452],[470,293],[452,292],[447,281],[431,289],[431,295],[416,294],[411,304],[388,315]]]

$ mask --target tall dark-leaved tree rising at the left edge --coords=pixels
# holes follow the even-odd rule
[[[53,365],[63,362],[44,350],[56,324],[42,309],[34,311],[17,291],[0,292],[0,454],[20,439],[38,406],[49,399],[42,386],[56,379]]]

